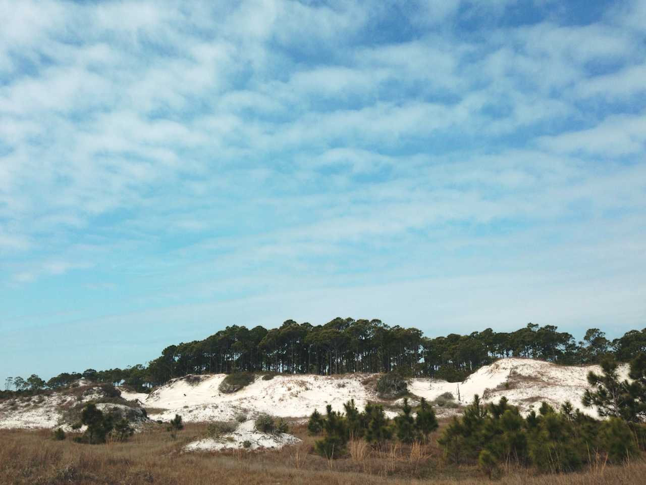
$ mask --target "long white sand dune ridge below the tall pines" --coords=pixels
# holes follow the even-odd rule
[[[545,400],[558,407],[566,400],[574,407],[581,407],[581,396],[587,388],[586,376],[590,370],[600,372],[598,366],[559,366],[530,359],[504,359],[482,367],[464,382],[448,383],[433,379],[413,379],[409,389],[412,394],[435,400],[444,393],[461,398],[460,404],[468,404],[474,394],[486,401],[499,400],[505,396],[510,404],[520,407],[523,413],[537,409]],[[621,376],[626,378],[628,366],[621,367]],[[200,376],[197,382],[189,383],[180,378],[169,382],[151,394],[121,392],[127,400],[135,400],[149,410],[154,420],[168,421],[174,415],[182,415],[185,422],[233,420],[244,414],[251,420],[259,413],[269,413],[286,418],[306,418],[314,409],[324,413],[327,404],[342,411],[343,404],[353,398],[362,409],[369,400],[378,400],[373,390],[363,382],[368,374],[345,376],[294,376],[278,375],[271,380],[256,377],[255,382],[244,389],[223,394],[218,386],[224,374]],[[90,400],[92,388],[83,396]],[[61,422],[63,407],[72,399],[61,393],[34,398],[18,398],[0,403],[0,427],[56,427]],[[594,409],[583,409],[595,416]],[[459,409],[436,408],[438,415],[459,412]],[[395,415],[389,411],[390,416]]]

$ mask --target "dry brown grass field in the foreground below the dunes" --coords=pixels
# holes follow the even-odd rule
[[[2,484],[481,484],[488,480],[474,466],[446,464],[441,451],[428,446],[393,444],[381,451],[351,443],[348,458],[328,461],[313,454],[314,439],[303,425],[291,432],[303,440],[276,451],[182,453],[203,436],[205,426],[189,424],[172,440],[163,427],[137,433],[129,442],[83,445],[54,441],[50,431],[0,431]],[[646,463],[595,466],[568,475],[537,475],[512,469],[501,484],[642,484]]]

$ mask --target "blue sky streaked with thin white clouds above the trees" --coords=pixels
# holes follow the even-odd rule
[[[646,326],[646,1],[0,18],[1,379],[288,318]]]

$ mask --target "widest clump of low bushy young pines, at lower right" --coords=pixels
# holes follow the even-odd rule
[[[477,459],[486,473],[495,470],[494,463],[564,473],[581,469],[596,453],[618,461],[637,449],[629,425],[619,418],[600,422],[573,410],[570,403],[558,413],[543,403],[539,414],[532,411],[523,418],[505,398],[485,406],[477,396],[438,442],[453,462]]]

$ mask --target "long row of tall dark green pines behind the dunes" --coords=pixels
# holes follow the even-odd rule
[[[146,389],[188,374],[340,374],[393,369],[457,382],[498,358],[526,357],[571,365],[598,363],[606,356],[627,362],[640,352],[646,352],[646,329],[630,330],[612,340],[599,329],[589,329],[583,340],[576,341],[554,325],[529,323],[513,332],[485,329],[429,338],[414,327],[391,327],[379,319],[335,318],[324,325],[287,320],[269,330],[231,325],[203,340],[169,345],[147,365],[63,372],[47,382],[35,374],[9,378],[5,390],[57,389],[79,378]]]

